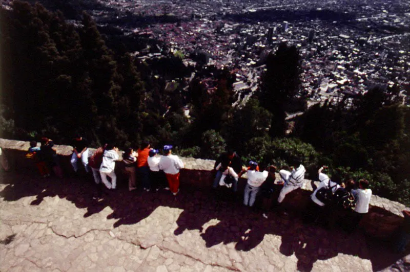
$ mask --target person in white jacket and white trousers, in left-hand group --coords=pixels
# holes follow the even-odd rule
[[[103,162],[99,168],[101,180],[108,189],[115,189],[117,185],[117,176],[115,175],[115,161],[118,161],[118,148],[112,144],[108,144],[103,155]],[[111,183],[108,182],[107,176],[111,178]]]

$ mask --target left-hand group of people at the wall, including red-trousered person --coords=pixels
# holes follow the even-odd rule
[[[47,177],[51,169],[58,177],[63,177],[63,171],[59,165],[56,149],[53,141],[42,138],[41,145],[37,147],[37,142],[30,142],[27,158],[34,160],[40,175]],[[75,173],[80,165],[83,165],[86,173],[92,173],[96,184],[103,183],[108,189],[115,189],[117,186],[117,176],[115,174],[115,162],[120,161],[118,148],[107,143],[97,148],[89,156],[89,144],[87,139],[78,135],[72,141],[73,153],[70,163]],[[158,149],[153,149],[150,142],[144,141],[138,150],[128,148],[122,153],[122,162],[128,174],[129,190],[136,189],[136,177],[138,175],[142,188],[145,191],[160,188],[170,190],[174,195],[179,192],[179,169],[184,165],[177,155],[172,154],[172,145],[165,145],[162,148],[163,154]]]

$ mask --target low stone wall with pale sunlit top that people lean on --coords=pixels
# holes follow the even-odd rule
[[[36,171],[32,161],[27,160],[25,155],[30,147],[29,142],[0,139],[0,147],[7,156],[9,163],[15,171]],[[57,154],[60,158],[60,164],[66,174],[73,172],[70,164],[70,156],[72,147],[65,145],[55,145]],[[95,149],[90,148],[90,155]],[[181,170],[181,186],[195,186],[198,189],[209,189],[212,185],[215,161],[202,160],[199,158],[181,157],[185,164],[185,169]],[[124,165],[121,162],[116,163],[115,172],[119,175],[119,180],[124,178]],[[278,174],[277,174],[278,175]],[[277,176],[279,177],[279,176]],[[239,193],[243,192],[246,184],[245,178],[239,179]],[[301,190],[296,190],[288,194],[283,201],[283,206],[286,209],[293,211],[303,211],[307,203],[310,201],[309,196],[313,191],[313,187],[317,187],[319,182],[305,180]],[[276,186],[276,196],[281,189],[280,185]],[[403,210],[409,210],[399,202],[391,201],[376,195],[372,196],[371,207],[369,212],[363,218],[361,225],[366,233],[388,240],[393,237],[394,232],[403,223]]]

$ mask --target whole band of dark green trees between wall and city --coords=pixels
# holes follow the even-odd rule
[[[326,164],[333,179],[365,177],[376,194],[410,203],[410,110],[397,87],[316,104],[285,136],[285,111],[303,102],[295,47],[271,52],[257,96],[233,107],[235,73],[198,64],[188,80],[193,67],[180,52],[140,62],[128,46],[103,38],[87,14],[74,26],[39,4],[12,8],[0,14],[2,137],[69,143],[80,133],[92,146],[120,148],[150,139],[202,158],[229,146],[262,168],[302,162],[313,179]]]

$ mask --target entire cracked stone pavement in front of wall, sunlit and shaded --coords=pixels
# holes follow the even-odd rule
[[[409,256],[293,214],[182,188],[115,191],[81,178],[0,173],[1,271],[371,271]],[[408,252],[407,252],[408,254]]]

